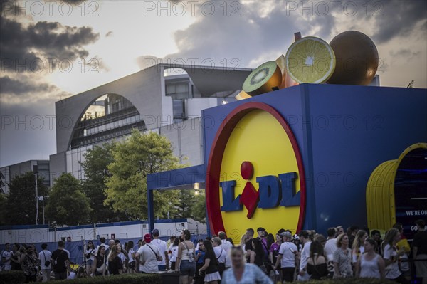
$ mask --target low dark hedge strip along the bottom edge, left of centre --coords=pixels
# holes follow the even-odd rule
[[[159,274],[123,274],[65,280],[70,284],[162,284]],[[166,284],[166,283],[164,283]]]

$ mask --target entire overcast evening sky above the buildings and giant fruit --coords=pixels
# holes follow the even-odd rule
[[[381,85],[427,88],[426,1],[5,1],[0,167],[56,153],[55,102],[151,65],[255,68],[293,34],[371,37]]]

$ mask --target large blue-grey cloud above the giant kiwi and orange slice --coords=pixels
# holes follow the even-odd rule
[[[297,31],[302,36],[330,36],[334,28],[332,15],[310,17],[309,13],[288,11],[288,2],[254,1],[247,5],[238,1],[211,1],[215,5],[211,16],[208,16],[211,9],[196,5],[195,11],[201,11],[197,20],[174,33],[179,52],[165,56],[163,62],[174,63],[180,58],[189,62],[195,58],[196,65],[211,65],[213,61],[216,67],[256,67],[251,61],[260,57],[275,60],[286,53]],[[228,3],[227,10],[224,3]]]

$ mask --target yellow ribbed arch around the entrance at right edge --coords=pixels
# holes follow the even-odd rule
[[[404,150],[398,159],[380,164],[367,184],[367,216],[369,228],[387,230],[396,223],[394,180],[402,159],[414,149],[427,149],[427,143],[416,143]]]

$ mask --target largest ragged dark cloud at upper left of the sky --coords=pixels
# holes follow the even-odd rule
[[[23,26],[14,19],[1,18],[1,70],[37,73],[43,68],[56,68],[58,61],[86,58],[89,52],[83,46],[99,37],[99,33],[86,26],[46,21]]]

